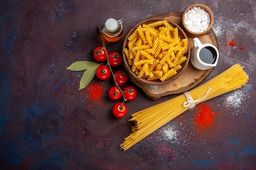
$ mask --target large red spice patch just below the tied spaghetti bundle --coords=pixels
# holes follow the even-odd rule
[[[200,104],[198,106],[199,110],[195,117],[194,124],[199,127],[199,131],[202,132],[203,128],[211,129],[211,125],[214,124],[214,119],[216,118],[216,113],[211,112],[210,104]]]

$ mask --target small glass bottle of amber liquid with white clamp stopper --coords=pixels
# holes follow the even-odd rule
[[[114,18],[109,18],[101,29],[104,38],[108,42],[118,42],[124,36],[123,20],[115,20]]]

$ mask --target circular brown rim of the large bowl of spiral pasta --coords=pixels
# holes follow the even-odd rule
[[[188,39],[186,33],[182,30],[182,28],[171,22],[170,20],[166,19],[166,18],[149,18],[149,19],[146,19],[146,20],[142,20],[141,22],[138,22],[137,24],[135,24],[135,26],[132,27],[132,29],[130,29],[130,31],[127,33],[125,39],[124,39],[124,43],[122,45],[122,58],[123,58],[123,62],[124,62],[124,68],[125,70],[129,73],[128,77],[132,77],[134,79],[136,79],[138,82],[140,83],[143,83],[143,84],[147,84],[147,85],[164,85],[164,84],[167,84],[169,82],[172,82],[173,80],[175,80],[177,77],[179,77],[183,71],[185,70],[185,68],[187,67],[187,65],[189,64],[189,59],[190,59],[190,46],[188,44],[188,51],[187,51],[187,60],[183,66],[183,68],[180,70],[180,72],[176,75],[174,75],[173,77],[171,77],[170,79],[166,79],[164,82],[161,82],[161,80],[153,80],[153,81],[149,81],[145,78],[139,78],[137,77],[137,75],[131,70],[129,64],[128,64],[128,61],[126,59],[126,55],[124,53],[124,50],[126,47],[127,47],[127,43],[128,42],[128,37],[132,34],[132,32],[141,24],[143,24],[142,22],[147,22],[147,21],[152,21],[152,22],[155,22],[155,21],[160,21],[160,20],[166,20],[168,23],[170,24],[173,24],[174,26],[176,26],[178,28],[179,31],[182,32],[182,34],[184,35],[185,38]],[[189,39],[188,39],[189,40]]]

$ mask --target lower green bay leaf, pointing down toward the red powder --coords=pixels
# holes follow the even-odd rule
[[[92,81],[92,78],[94,77],[99,66],[100,64],[95,63],[94,65],[91,65],[89,68],[87,68],[87,70],[85,70],[80,80],[79,90],[85,88]]]

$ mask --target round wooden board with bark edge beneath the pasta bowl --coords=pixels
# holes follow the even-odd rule
[[[175,12],[175,13],[163,13],[159,15],[151,16],[150,18],[165,18],[169,22],[174,22],[175,24],[180,26],[180,20],[182,17],[182,12]],[[193,46],[193,38],[189,37],[189,45],[190,50],[194,48]],[[216,36],[212,29],[207,33],[207,35],[203,35],[198,37],[199,40],[202,43],[210,43],[213,44],[218,48],[218,44],[216,41]],[[183,73],[177,77],[177,79],[173,80],[172,82],[168,84],[164,84],[161,86],[154,86],[154,85],[147,85],[138,82],[136,79],[129,76],[129,79],[139,86],[144,93],[152,98],[152,99],[158,99],[161,97],[164,97],[166,95],[171,94],[177,94],[177,93],[183,93],[185,91],[188,91],[189,89],[193,88],[200,82],[202,82],[213,70],[213,68],[210,68],[208,70],[199,70],[195,68],[191,62],[189,62],[186,69],[183,71]]]

